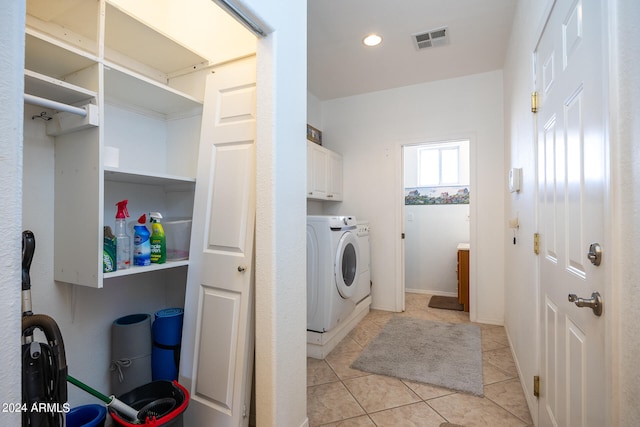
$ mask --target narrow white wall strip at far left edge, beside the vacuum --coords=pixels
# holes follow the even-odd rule
[[[22,398],[20,360],[22,242],[22,105],[25,1],[4,2],[0,14],[0,402]],[[0,412],[0,425],[20,425],[19,412]]]

